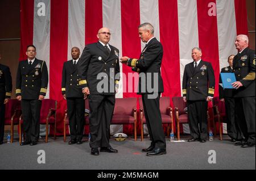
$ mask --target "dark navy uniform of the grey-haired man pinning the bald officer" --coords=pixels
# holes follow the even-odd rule
[[[160,67],[163,58],[162,44],[153,37],[142,50],[139,59],[130,58],[127,65],[133,71],[139,73],[139,86],[137,94],[142,95],[142,102],[148,133],[150,135],[150,148],[166,150],[166,139],[162,127],[162,117],[159,110],[160,94],[164,91],[163,79],[160,74]],[[145,76],[143,76],[143,75]],[[142,76],[141,76],[142,75]],[[154,75],[157,75],[154,77]],[[157,78],[158,85],[154,85],[154,78]],[[147,90],[147,83],[151,83],[152,90]],[[155,98],[150,98],[152,94],[157,94]]]

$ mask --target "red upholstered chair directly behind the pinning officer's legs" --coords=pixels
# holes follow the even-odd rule
[[[143,124],[146,124],[144,117],[142,98],[139,98],[140,118],[141,118],[141,141],[143,141]],[[172,108],[170,107],[170,97],[160,97],[159,108],[162,117],[162,123],[167,124],[167,135],[170,135],[171,130],[174,131],[174,119],[172,116]]]

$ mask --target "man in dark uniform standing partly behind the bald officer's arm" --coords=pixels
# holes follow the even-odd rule
[[[72,60],[64,62],[62,71],[61,91],[64,99],[67,99],[68,119],[72,144],[82,144],[84,131],[84,94],[79,86],[79,74],[77,63],[79,62],[80,49],[71,49]]]

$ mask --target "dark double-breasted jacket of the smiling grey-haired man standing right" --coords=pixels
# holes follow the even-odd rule
[[[196,69],[194,61],[185,65],[182,90],[187,100],[207,100],[207,96],[213,97],[214,86],[214,71],[210,62],[201,60]]]

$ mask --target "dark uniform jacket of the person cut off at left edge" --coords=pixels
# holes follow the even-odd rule
[[[8,66],[0,64],[0,100],[11,98],[11,73]]]

